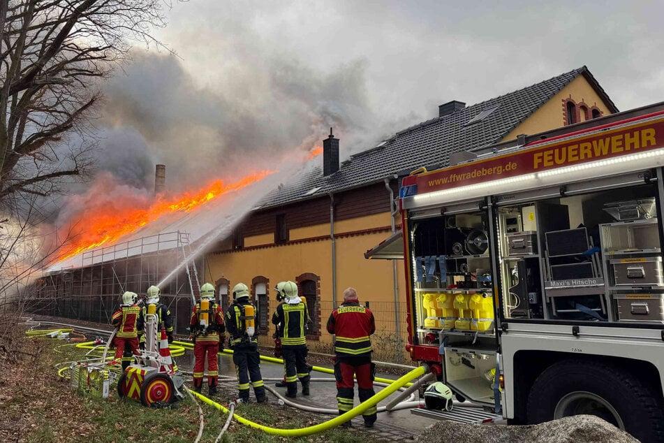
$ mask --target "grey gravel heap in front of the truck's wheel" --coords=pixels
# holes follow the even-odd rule
[[[439,421],[418,436],[420,443],[639,443],[628,433],[593,415],[577,415],[538,425],[475,425]]]

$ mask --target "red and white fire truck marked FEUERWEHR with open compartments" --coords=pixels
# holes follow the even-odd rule
[[[508,423],[663,441],[664,111],[456,157],[399,190],[411,358]]]

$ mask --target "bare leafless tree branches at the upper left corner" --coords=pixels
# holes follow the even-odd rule
[[[163,0],[0,0],[0,204],[91,166],[99,79],[165,23]]]

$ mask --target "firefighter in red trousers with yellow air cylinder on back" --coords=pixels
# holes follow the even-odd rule
[[[207,389],[209,395],[216,394],[219,379],[217,352],[223,351],[226,340],[226,328],[223,326],[223,312],[214,300],[214,286],[205,283],[200,286],[200,300],[193,307],[189,324],[193,339],[193,390],[200,392],[203,385],[205,370],[205,354],[207,354]]]

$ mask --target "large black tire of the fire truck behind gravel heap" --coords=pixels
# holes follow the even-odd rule
[[[636,375],[593,360],[554,363],[533,383],[528,423],[580,414],[599,416],[642,442],[664,441],[661,400]]]

